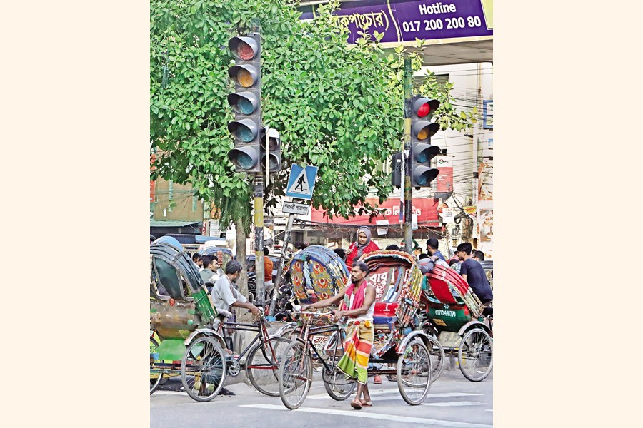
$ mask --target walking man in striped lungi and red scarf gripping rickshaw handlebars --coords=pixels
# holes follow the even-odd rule
[[[350,379],[357,379],[357,396],[351,402],[351,407],[357,410],[373,405],[369,394],[367,367],[374,339],[375,287],[367,282],[368,273],[369,266],[358,261],[352,266],[351,283],[347,287],[333,297],[305,307],[328,307],[339,303],[339,308],[333,310],[333,321],[347,317],[344,355],[337,363],[337,368]]]

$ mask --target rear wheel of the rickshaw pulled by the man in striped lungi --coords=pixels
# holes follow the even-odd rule
[[[429,350],[420,340],[412,340],[397,360],[397,387],[408,404],[422,404],[431,386]]]

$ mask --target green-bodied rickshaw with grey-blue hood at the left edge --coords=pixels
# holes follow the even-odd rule
[[[276,370],[289,340],[269,336],[262,317],[256,324],[224,323],[231,315],[217,312],[196,265],[179,243],[150,245],[150,394],[166,376],[181,376],[185,392],[196,401],[214,399],[226,376],[246,374],[260,392],[276,396]],[[233,355],[227,330],[257,332],[241,355]],[[159,340],[156,340],[156,337]]]

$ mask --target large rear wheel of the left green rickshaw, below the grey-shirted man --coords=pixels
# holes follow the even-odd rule
[[[226,378],[226,358],[213,337],[201,336],[188,346],[181,360],[181,382],[185,392],[198,402],[219,394]]]

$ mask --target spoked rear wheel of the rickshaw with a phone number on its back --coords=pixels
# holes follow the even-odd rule
[[[464,377],[480,382],[489,376],[494,365],[493,350],[494,343],[489,333],[481,328],[466,332],[458,349],[458,365]]]

